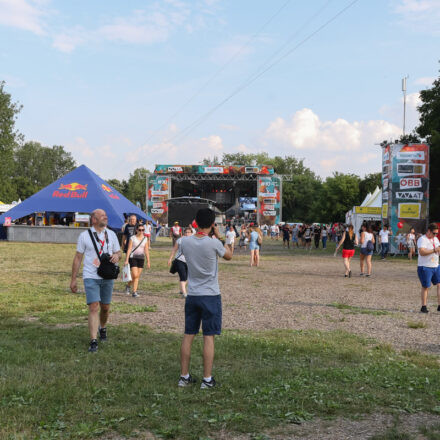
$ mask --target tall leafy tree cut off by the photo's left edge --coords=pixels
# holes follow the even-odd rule
[[[11,181],[14,170],[14,149],[22,135],[15,129],[15,120],[21,106],[12,102],[11,95],[0,81],[0,200],[12,202],[17,193]]]

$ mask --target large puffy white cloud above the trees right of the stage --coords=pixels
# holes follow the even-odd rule
[[[378,143],[394,140],[401,129],[384,120],[322,121],[311,109],[290,119],[272,121],[265,131],[264,149],[270,155],[294,155],[322,176],[334,171],[363,175],[380,171]]]

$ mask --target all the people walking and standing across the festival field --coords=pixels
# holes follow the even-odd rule
[[[90,334],[89,352],[98,351],[98,336],[105,342],[107,321],[113,294],[114,280],[118,277],[119,261],[122,257],[117,235],[107,227],[108,217],[105,211],[97,209],[91,214],[91,228],[80,234],[76,254],[72,264],[70,288],[78,291],[77,275],[84,259],[83,282],[86,302],[89,308],[88,327]],[[150,267],[149,247],[151,228],[148,223],[138,222],[135,216],[128,219],[123,230],[122,247],[125,253],[125,264],[131,268],[132,281],[127,292],[137,296],[137,285],[142,269],[147,261]],[[151,226],[151,224],[150,224]],[[250,250],[250,265],[259,265],[259,250],[264,236],[263,228],[258,225],[242,225],[240,231],[229,225],[225,239],[220,235],[215,223],[215,213],[210,209],[200,209],[195,222],[183,231],[180,226],[172,234],[173,249],[168,259],[170,271],[179,274],[180,292],[185,297],[185,330],[180,350],[181,373],[177,381],[179,387],[193,385],[196,379],[190,374],[191,347],[195,336],[203,332],[203,379],[201,388],[209,389],[216,386],[212,376],[214,361],[214,337],[221,333],[222,303],[218,283],[218,258],[231,260],[234,253],[235,240],[243,241],[243,247]],[[278,226],[278,225],[277,225]],[[440,242],[438,225],[431,223],[425,234],[417,236],[414,230],[407,234],[408,249],[411,255],[415,247],[418,250],[417,274],[421,284],[420,312],[428,313],[427,299],[431,285],[437,288],[438,307],[440,311]],[[277,239],[275,236],[273,239]],[[360,275],[370,277],[372,274],[372,255],[376,236],[371,225],[363,224],[359,238],[352,225],[338,225],[337,229],[327,225],[282,225],[280,228],[283,241],[300,243],[307,249],[312,240],[315,247],[326,239],[336,237],[335,255],[342,247],[345,277],[352,276],[351,259],[355,247],[360,246]],[[382,258],[386,258],[389,238],[392,231],[384,225],[377,234],[382,249]],[[301,239],[301,241],[300,241]]]

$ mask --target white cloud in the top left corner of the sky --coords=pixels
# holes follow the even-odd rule
[[[0,25],[44,35],[44,3],[35,0],[0,0]]]

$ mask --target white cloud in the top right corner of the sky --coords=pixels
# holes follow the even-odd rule
[[[440,0],[393,0],[392,4],[406,29],[440,34]]]

